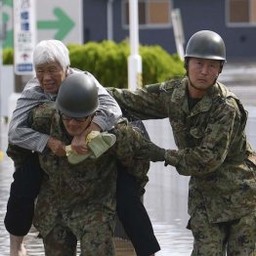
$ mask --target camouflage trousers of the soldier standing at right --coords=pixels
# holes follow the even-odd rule
[[[256,256],[256,211],[238,220],[209,223],[205,209],[192,216],[192,256]],[[227,254],[226,254],[227,253]]]

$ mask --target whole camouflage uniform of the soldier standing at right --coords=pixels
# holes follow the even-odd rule
[[[169,117],[178,150],[166,151],[166,163],[191,176],[192,255],[223,255],[225,243],[230,255],[256,255],[256,156],[244,131],[247,112],[219,82],[189,107],[187,84],[173,79],[111,94],[142,119]]]

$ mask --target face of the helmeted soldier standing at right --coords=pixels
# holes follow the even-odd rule
[[[218,78],[220,68],[220,61],[191,58],[189,76],[193,87],[200,91],[206,91]]]

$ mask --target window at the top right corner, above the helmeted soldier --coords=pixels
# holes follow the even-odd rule
[[[256,25],[256,0],[227,0],[230,24]]]

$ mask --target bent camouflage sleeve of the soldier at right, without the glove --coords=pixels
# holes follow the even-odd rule
[[[214,172],[226,159],[240,131],[241,115],[235,107],[220,105],[214,112],[197,147],[167,150],[166,163],[182,175],[200,176]]]

